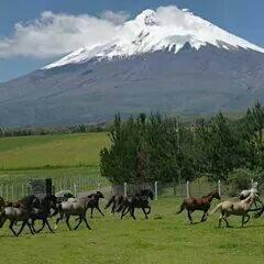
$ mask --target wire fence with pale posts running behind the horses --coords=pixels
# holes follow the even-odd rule
[[[51,177],[50,177],[51,178]],[[40,178],[38,178],[40,179]],[[100,175],[87,175],[87,176],[63,176],[54,177],[53,190],[57,193],[59,190],[70,190],[75,196],[77,194],[87,194],[91,190],[101,190],[105,193],[106,197],[111,195],[124,195],[131,196],[140,193],[143,189],[151,189],[154,194],[155,199],[165,198],[165,197],[201,197],[210,191],[218,189],[220,196],[230,197],[237,196],[240,194],[239,190],[233,185],[228,185],[223,182],[208,182],[205,179],[197,179],[195,182],[182,182],[179,184],[174,183],[141,183],[141,184],[131,184],[123,183],[121,185],[110,185],[109,180],[106,177]],[[251,184],[249,184],[251,188]],[[18,200],[31,193],[30,179],[24,182],[4,182],[0,183],[0,196],[6,200]]]

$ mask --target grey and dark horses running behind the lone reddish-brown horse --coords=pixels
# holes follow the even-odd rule
[[[45,227],[53,233],[62,220],[65,220],[68,229],[73,230],[69,220],[70,217],[76,217],[75,220],[78,223],[74,227],[74,230],[78,229],[81,222],[85,222],[86,227],[91,229],[87,220],[87,211],[90,209],[90,217],[92,218],[94,210],[97,209],[103,217],[105,215],[99,207],[101,198],[105,198],[101,191],[79,198],[72,195],[65,195],[63,198],[55,195],[44,197],[30,195],[14,202],[4,201],[0,197],[0,228],[9,220],[9,229],[14,237],[19,237],[26,226],[32,234],[40,233]],[[153,198],[154,194],[151,190],[142,190],[130,197],[114,195],[106,208],[112,206],[112,213],[121,212],[121,218],[130,213],[133,219],[135,219],[135,208],[141,208],[147,219],[147,215],[151,212],[148,199],[153,200]],[[57,216],[56,224],[52,228],[48,220],[55,216]],[[42,221],[40,229],[35,228],[36,221]],[[21,226],[19,231],[15,231],[14,228],[18,223],[21,223]]]

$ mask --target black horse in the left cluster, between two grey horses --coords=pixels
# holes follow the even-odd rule
[[[51,217],[51,210],[57,210],[57,198],[54,195],[48,195],[38,199],[38,202],[34,205],[34,208],[31,212],[32,229],[35,233],[41,232],[45,226],[48,230],[54,233],[53,229],[50,226],[48,218]],[[35,230],[35,221],[42,220],[42,227],[38,230]]]

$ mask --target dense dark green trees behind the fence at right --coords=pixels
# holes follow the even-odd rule
[[[262,175],[264,107],[258,102],[233,120],[222,112],[194,122],[161,114],[116,116],[110,147],[100,153],[101,175],[114,184],[228,180],[235,169]]]

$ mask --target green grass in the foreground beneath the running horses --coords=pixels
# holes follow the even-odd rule
[[[241,229],[240,218],[231,217],[234,228],[218,229],[216,213],[206,223],[190,226],[184,215],[175,215],[178,206],[173,198],[162,198],[153,202],[150,220],[136,212],[136,221],[107,211],[107,217],[90,220],[91,231],[84,226],[68,231],[62,223],[55,234],[24,233],[16,239],[6,224],[0,230],[1,263],[263,263],[263,219]]]

